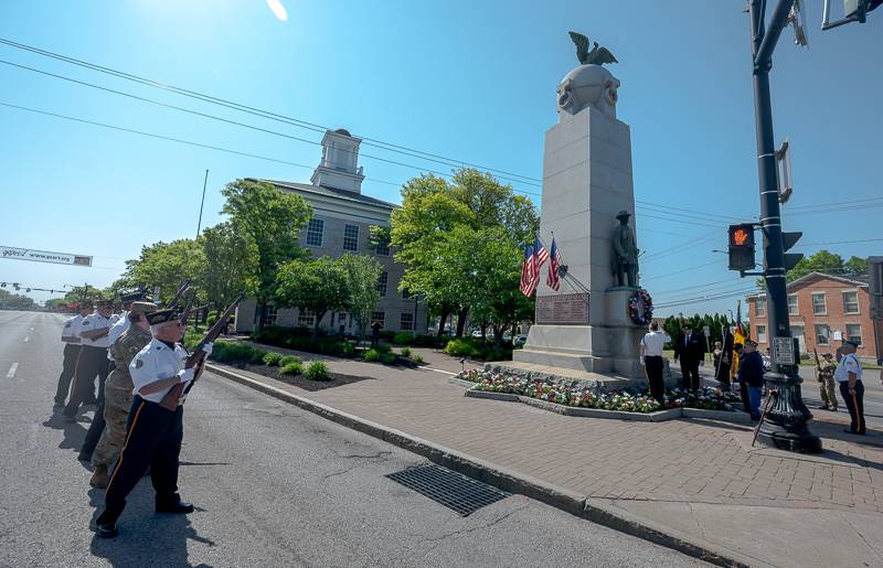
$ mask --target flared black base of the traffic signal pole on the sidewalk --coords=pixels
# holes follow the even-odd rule
[[[800,383],[804,379],[799,375],[767,373],[764,375],[764,382],[768,389],[778,390],[778,395],[766,414],[764,424],[760,425],[757,439],[780,450],[800,453],[821,452],[821,440],[807,427],[812,414],[800,396]]]

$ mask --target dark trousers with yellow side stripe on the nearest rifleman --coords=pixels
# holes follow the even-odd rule
[[[116,523],[126,507],[126,496],[150,465],[156,504],[178,503],[178,457],[184,436],[183,407],[171,411],[135,395],[129,410],[126,444],[105,493],[105,510],[96,523]]]

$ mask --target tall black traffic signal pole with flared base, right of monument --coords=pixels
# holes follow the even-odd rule
[[[760,231],[764,235],[764,277],[767,289],[767,317],[770,345],[774,350],[794,344],[788,322],[788,296],[785,288],[785,244],[779,211],[779,189],[776,179],[776,146],[773,137],[773,108],[769,97],[769,71],[773,52],[795,0],[779,0],[765,28],[765,0],[751,0],[752,54],[754,58],[754,107],[757,128],[757,172],[760,182]],[[799,236],[799,235],[798,235]],[[792,354],[796,350],[792,349]],[[794,355],[792,355],[794,356]],[[812,415],[800,395],[802,379],[797,374],[799,361],[784,364],[774,356],[773,372],[764,375],[767,388],[775,390],[773,406],[760,426],[760,440],[777,448],[798,452],[820,452],[821,440],[807,428]]]

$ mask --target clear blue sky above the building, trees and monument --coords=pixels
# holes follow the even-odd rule
[[[7,0],[0,3],[0,36],[536,179],[543,132],[556,120],[555,87],[576,63],[566,32],[582,31],[621,62],[610,68],[623,83],[618,116],[631,126],[638,244],[646,250],[642,283],[657,303],[752,285],[725,269],[724,255],[711,251],[725,247],[724,217],[748,221],[758,208],[744,1],[281,2],[287,22],[263,0]],[[802,243],[880,238],[883,9],[866,24],[821,32],[821,1],[806,3],[810,49],[795,47],[786,30],[773,72],[777,141],[787,137],[794,149],[796,191],[785,210],[786,228],[802,231]],[[312,141],[321,138],[4,45],[0,60]],[[0,245],[95,257],[93,268],[0,259],[0,280],[36,287],[107,286],[142,244],[192,237],[205,169],[211,173],[203,226],[220,221],[225,183],[244,176],[307,181],[320,153],[312,143],[4,64],[0,103],[306,165],[0,107]],[[363,153],[449,170],[375,148],[363,147]],[[361,164],[369,178],[364,193],[394,202],[400,201],[397,185],[419,171],[366,157]],[[539,192],[530,184],[513,186]],[[797,214],[798,207],[863,197],[879,201],[854,211]],[[645,208],[647,203],[656,205]],[[702,214],[662,215],[659,204]],[[883,242],[825,248],[844,257],[868,256],[881,254]],[[735,299],[726,299],[658,314],[734,307]]]

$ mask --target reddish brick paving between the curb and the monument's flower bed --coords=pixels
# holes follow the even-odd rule
[[[517,403],[467,398],[462,386],[433,371],[326,360],[333,371],[375,379],[315,393],[285,388],[575,493],[615,500],[646,515],[656,512],[657,519],[670,513],[652,502],[724,505],[731,507],[728,514],[734,514],[732,506],[826,510],[841,517],[866,512],[876,526],[882,525],[883,433],[879,431],[869,430],[865,443],[855,443],[840,432],[841,424],[813,421],[826,451],[800,456],[751,448],[752,432],[745,426],[561,416]],[[844,526],[858,531],[848,521]],[[876,550],[859,536],[870,558],[883,555],[883,547]],[[883,566],[883,556],[875,559]]]

